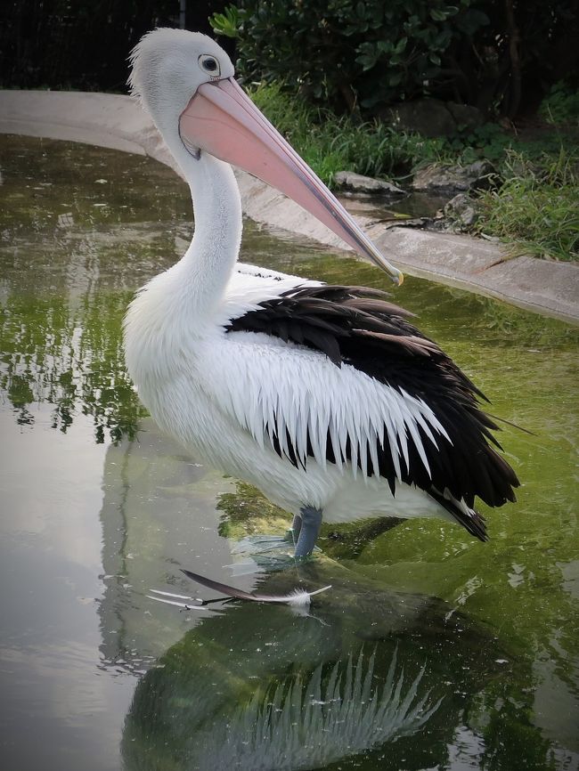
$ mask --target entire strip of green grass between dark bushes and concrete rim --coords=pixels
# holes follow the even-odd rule
[[[485,124],[453,139],[427,139],[379,122],[336,117],[282,85],[257,84],[252,99],[323,182],[338,171],[400,180],[425,164],[492,160],[504,183],[480,195],[477,230],[499,236],[513,256],[579,259],[579,155],[576,136],[554,130],[517,136]]]

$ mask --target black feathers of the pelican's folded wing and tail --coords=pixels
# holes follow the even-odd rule
[[[325,353],[338,367],[347,363],[379,382],[404,391],[427,403],[433,410],[450,442],[436,436],[437,448],[419,426],[427,454],[430,475],[408,437],[410,469],[403,468],[402,481],[427,491],[477,538],[485,540],[484,519],[473,513],[469,518],[452,500],[464,499],[468,507],[475,497],[489,506],[502,506],[515,500],[518,478],[509,464],[493,449],[502,449],[492,431],[498,426],[483,412],[479,399],[485,394],[467,377],[436,343],[407,321],[413,314],[386,299],[379,289],[322,285],[298,287],[260,304],[255,311],[232,319],[226,331],[264,332],[298,345]],[[285,454],[298,465],[298,453],[286,436],[289,452],[273,435],[279,455]],[[396,471],[386,435],[377,448],[378,468],[374,468],[370,449],[367,468],[370,475],[387,479],[396,491]],[[309,439],[307,454],[313,456]],[[351,459],[349,440],[347,459]],[[331,442],[327,459],[335,462]],[[358,464],[361,465],[360,459]]]

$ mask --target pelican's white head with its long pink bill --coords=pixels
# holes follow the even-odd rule
[[[131,64],[132,93],[172,150],[176,144],[195,159],[206,152],[254,174],[402,283],[402,273],[236,83],[232,61],[215,40],[184,29],[155,29],[136,45]]]

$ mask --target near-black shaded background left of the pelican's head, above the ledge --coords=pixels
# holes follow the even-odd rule
[[[186,27],[211,34],[219,0],[191,0]],[[126,91],[131,48],[155,27],[179,26],[178,0],[12,0],[0,4],[0,85]]]

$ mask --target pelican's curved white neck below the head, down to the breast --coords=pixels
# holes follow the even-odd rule
[[[183,360],[183,345],[215,329],[239,254],[241,197],[232,167],[201,153],[183,172],[195,212],[191,245],[143,287],[126,312],[126,364],[139,388],[151,377],[166,377]]]

